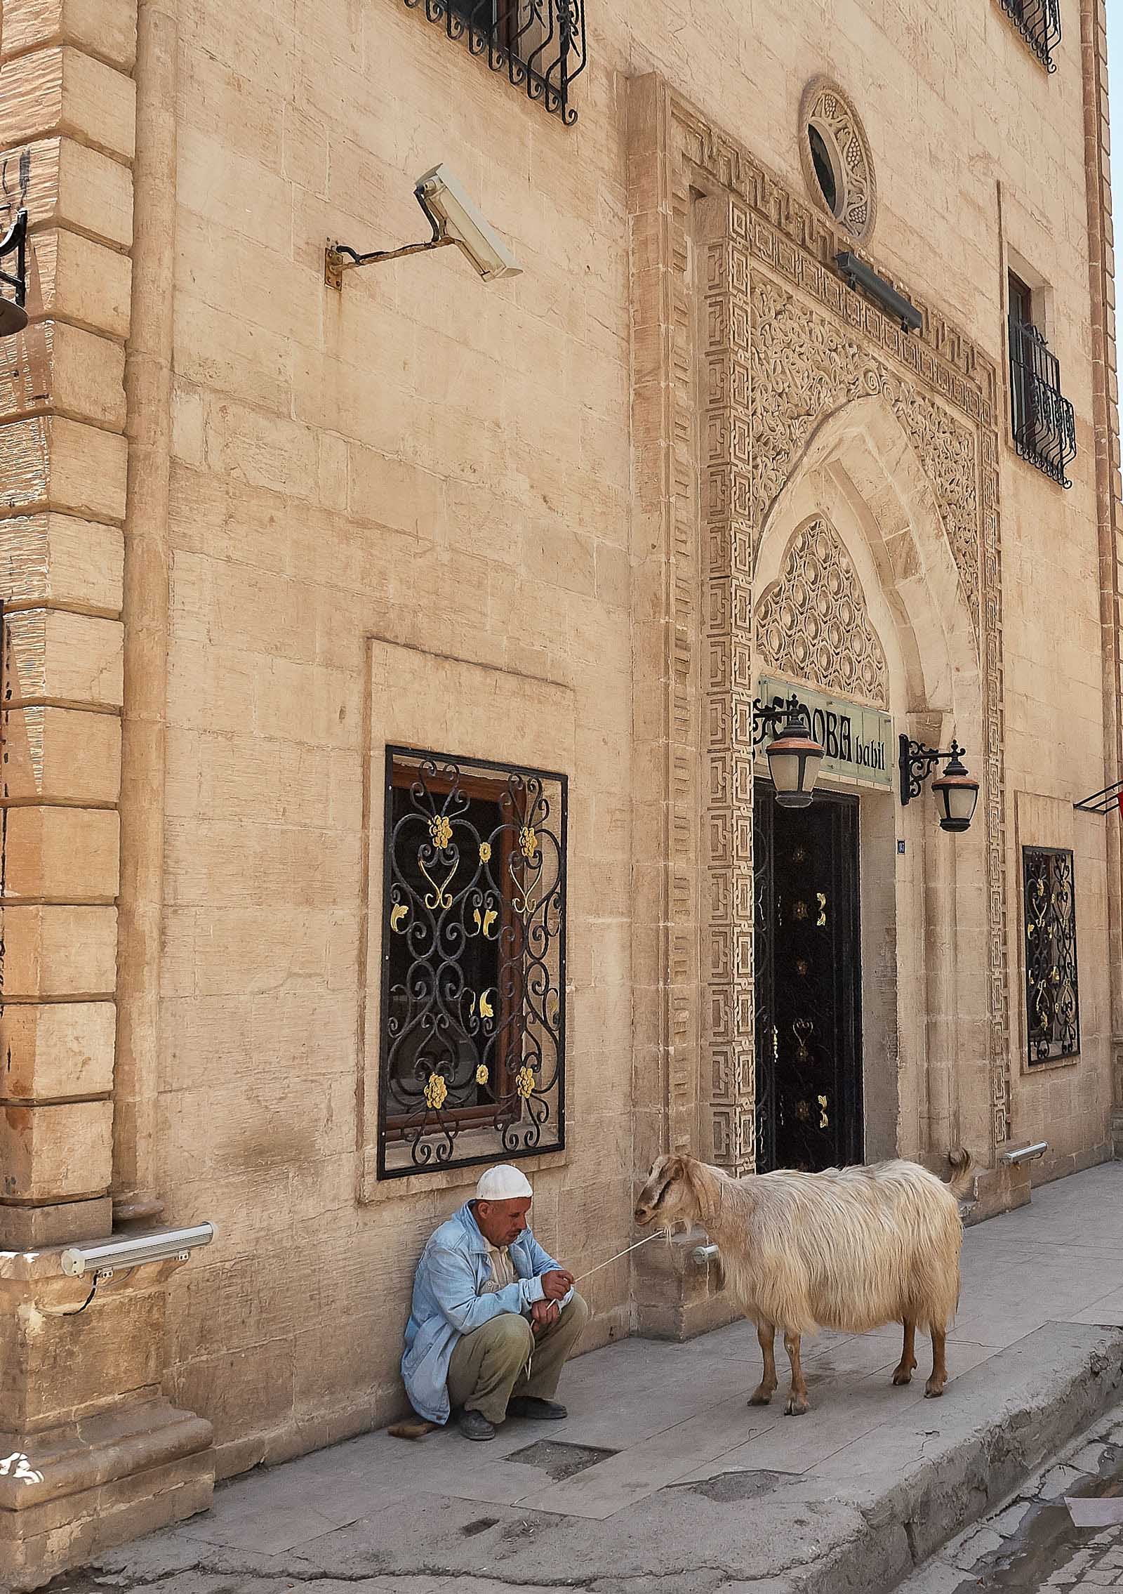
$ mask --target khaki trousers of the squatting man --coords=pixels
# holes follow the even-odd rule
[[[542,1334],[527,1318],[503,1312],[483,1328],[462,1334],[452,1350],[448,1392],[452,1409],[478,1411],[487,1422],[503,1422],[511,1395],[553,1400],[562,1363],[589,1320],[589,1309],[575,1294],[558,1321]],[[530,1377],[526,1364],[530,1361]]]

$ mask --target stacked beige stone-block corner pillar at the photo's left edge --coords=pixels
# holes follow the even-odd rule
[[[29,210],[32,317],[0,346],[10,1248],[110,1226],[134,43],[127,8],[3,6],[0,206]]]

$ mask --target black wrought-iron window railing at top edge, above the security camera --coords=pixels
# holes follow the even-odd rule
[[[422,0],[405,0],[414,10]],[[573,78],[585,70],[585,0],[424,0],[425,16],[473,56],[570,126]]]

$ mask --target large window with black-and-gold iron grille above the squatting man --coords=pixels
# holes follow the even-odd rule
[[[564,1144],[565,802],[387,749],[379,1178]]]

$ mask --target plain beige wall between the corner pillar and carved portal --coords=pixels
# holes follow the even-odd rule
[[[371,658],[413,662],[409,740],[435,751],[558,746],[569,705],[569,1149],[534,1178],[577,1272],[629,1234],[648,771],[612,77],[586,134],[398,5],[191,0],[180,38],[158,1165],[170,1215],[218,1224],[172,1285],[169,1392],[231,1470],[398,1409],[416,1258],[475,1183],[373,1176],[366,783],[405,711]],[[524,274],[484,287],[446,250],[327,292],[328,238],[425,236],[438,159]],[[589,1298],[591,1344],[626,1329],[626,1264]]]

